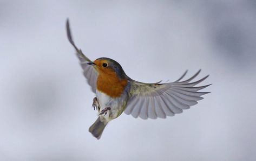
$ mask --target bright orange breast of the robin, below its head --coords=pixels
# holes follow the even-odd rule
[[[120,80],[117,78],[116,74],[106,74],[99,73],[97,79],[97,90],[111,96],[111,97],[119,97],[123,93],[123,89],[127,85],[127,79]]]

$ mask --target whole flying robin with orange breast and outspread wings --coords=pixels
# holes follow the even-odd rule
[[[88,59],[74,44],[68,20],[66,27],[69,42],[76,50],[83,74],[96,94],[92,107],[97,110],[99,117],[91,125],[89,132],[97,139],[100,139],[108,122],[119,117],[123,111],[135,118],[166,118],[189,109],[203,99],[201,95],[209,93],[198,92],[209,85],[194,87],[209,75],[191,82],[201,70],[185,81],[181,79],[187,71],[178,80],[169,83],[161,83],[161,81],[142,83],[130,79],[121,65],[113,59],[98,58],[95,61]]]

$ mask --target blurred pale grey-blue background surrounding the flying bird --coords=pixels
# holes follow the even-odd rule
[[[0,160],[255,160],[256,1],[0,1]],[[212,92],[182,114],[122,114],[88,132],[94,93],[65,33],[130,78],[200,68]]]

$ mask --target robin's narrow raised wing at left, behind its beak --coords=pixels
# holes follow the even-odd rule
[[[86,57],[86,55],[83,54],[81,49],[78,49],[76,47],[76,45],[73,41],[73,38],[71,36],[69,20],[67,20],[66,27],[67,27],[68,40],[74,46],[74,48],[76,50],[76,55],[77,55],[78,59],[80,60],[80,64],[83,68],[83,74],[84,74],[84,76],[86,76],[87,82],[91,86],[91,90],[93,90],[93,92],[96,93],[96,81],[97,81],[98,73],[93,66],[87,64],[87,62],[91,62],[91,60],[88,59]]]

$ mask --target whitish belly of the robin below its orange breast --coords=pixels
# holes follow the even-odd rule
[[[104,108],[110,107],[110,110],[106,115],[100,115],[100,117],[106,118],[107,121],[118,117],[126,106],[127,95],[122,94],[121,97],[113,99],[110,96],[100,92],[99,90],[96,90],[96,96],[100,104],[100,110],[98,110],[98,114]]]

